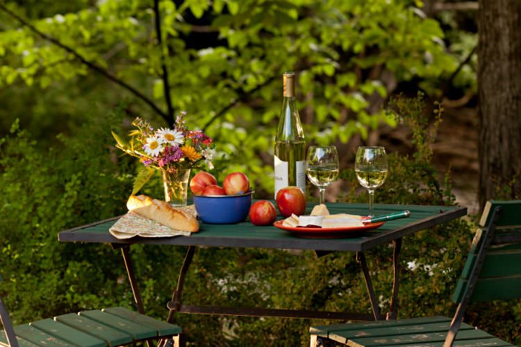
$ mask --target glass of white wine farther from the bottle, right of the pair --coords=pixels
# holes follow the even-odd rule
[[[360,185],[369,193],[369,216],[374,216],[374,190],[387,178],[387,154],[383,147],[358,147],[354,171]]]

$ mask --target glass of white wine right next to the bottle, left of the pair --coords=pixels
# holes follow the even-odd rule
[[[338,154],[335,146],[311,146],[308,150],[308,179],[320,191],[319,203],[324,203],[326,187],[338,178]]]

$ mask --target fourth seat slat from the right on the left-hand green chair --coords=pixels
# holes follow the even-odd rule
[[[42,319],[30,324],[31,326],[47,332],[63,341],[69,342],[81,347],[105,347],[105,341],[93,337],[91,334],[86,334],[80,330],[69,327],[63,323],[53,321],[51,318]]]

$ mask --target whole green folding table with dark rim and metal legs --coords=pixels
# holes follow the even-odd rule
[[[349,213],[363,215],[367,213],[367,204],[327,204],[331,213]],[[89,242],[110,243],[113,248],[121,248],[127,274],[138,307],[138,312],[144,314],[144,308],[138,289],[138,281],[133,273],[130,256],[131,245],[142,243],[147,245],[188,245],[176,289],[172,294],[172,301],[168,302],[169,315],[167,322],[172,323],[176,312],[192,314],[220,314],[237,316],[278,316],[290,318],[320,318],[320,319],[342,319],[352,321],[381,320],[383,317],[378,308],[377,296],[372,287],[370,273],[367,269],[364,252],[378,245],[394,243],[393,270],[394,278],[392,285],[392,296],[390,299],[390,312],[386,318],[396,318],[397,298],[399,287],[399,253],[402,247],[402,237],[419,232],[420,230],[454,220],[465,216],[465,207],[442,207],[442,206],[411,206],[398,204],[377,204],[375,213],[385,214],[397,211],[411,211],[411,216],[405,219],[390,220],[378,229],[372,229],[363,234],[355,234],[353,237],[342,239],[304,239],[294,236],[276,227],[257,227],[249,222],[235,225],[210,225],[201,223],[199,232],[191,236],[174,236],[167,238],[142,238],[136,236],[132,239],[119,240],[112,236],[108,229],[119,217],[101,220],[90,225],[83,225],[69,229],[58,234],[61,242]],[[311,204],[308,205],[309,213]],[[281,217],[279,217],[281,218]],[[257,307],[218,307],[218,306],[195,306],[182,303],[183,284],[186,272],[192,261],[195,248],[205,247],[234,247],[234,248],[277,248],[293,250],[315,250],[318,255],[327,252],[356,252],[356,257],[361,264],[367,294],[370,298],[372,314],[355,312],[326,312],[295,309],[265,309]]]

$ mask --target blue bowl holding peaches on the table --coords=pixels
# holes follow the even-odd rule
[[[238,195],[194,195],[197,215],[204,223],[235,224],[244,222],[254,191]]]

